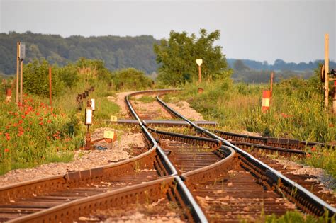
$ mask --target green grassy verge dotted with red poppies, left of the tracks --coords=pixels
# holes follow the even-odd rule
[[[75,100],[77,93],[84,89],[81,84],[68,89],[67,93],[53,98],[52,107],[48,98],[25,96],[22,110],[13,102],[4,103],[1,95],[0,175],[16,168],[73,159],[73,151],[84,145],[84,110],[77,110]],[[120,109],[107,100],[104,90],[94,91],[90,97],[96,99],[97,119],[110,118]]]

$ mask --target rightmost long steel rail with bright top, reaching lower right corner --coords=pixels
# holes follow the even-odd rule
[[[210,132],[194,124],[194,122],[191,122],[191,120],[185,118],[183,115],[177,113],[177,111],[170,108],[166,103],[164,103],[164,101],[159,98],[159,96],[157,96],[157,101],[159,101],[159,103],[161,103],[164,108],[170,110],[171,113],[176,115],[178,118],[186,120],[186,122],[194,127],[196,131],[204,132],[209,137],[212,137],[213,139],[219,139],[223,142],[223,144],[235,149],[235,151],[237,151],[238,154],[247,159],[247,161],[254,164],[254,166],[257,166],[257,168],[261,169],[264,172],[264,175],[269,178],[270,183],[273,184],[276,187],[276,190],[280,193],[284,193],[284,191],[281,191],[281,189],[286,190],[289,188],[289,191],[286,191],[287,197],[289,197],[289,200],[296,202],[296,205],[301,207],[301,209],[305,210],[306,212],[310,212],[316,216],[323,216],[325,215],[325,212],[327,212],[327,215],[329,217],[335,217],[335,207],[332,207],[313,193],[310,193],[310,191],[308,191],[306,188],[303,188],[301,185],[298,185],[297,183],[291,181],[291,179],[282,175],[274,168],[271,168],[267,164],[264,164],[262,161],[254,158],[254,156],[252,156],[251,154],[231,144],[230,142],[228,142],[228,140],[218,137],[218,135],[213,134],[213,132]]]

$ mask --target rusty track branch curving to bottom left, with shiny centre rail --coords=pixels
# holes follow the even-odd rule
[[[77,221],[78,217],[96,210],[169,198],[184,210],[183,219],[206,222],[176,169],[142,125],[129,101],[128,105],[151,146],[148,151],[110,166],[2,187],[1,221]]]

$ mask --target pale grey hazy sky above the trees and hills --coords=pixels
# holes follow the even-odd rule
[[[273,64],[324,59],[329,33],[335,61],[336,0],[80,1],[0,0],[0,33],[100,36],[152,35],[170,30],[220,30],[215,45],[227,58]]]

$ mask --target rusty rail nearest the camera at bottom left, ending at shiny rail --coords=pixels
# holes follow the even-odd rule
[[[133,185],[128,188],[121,188],[111,192],[93,195],[89,198],[73,200],[62,205],[51,207],[47,210],[13,219],[9,222],[73,222],[80,216],[93,213],[94,210],[99,209],[99,207],[108,208],[116,207],[117,205],[122,206],[126,200],[131,201],[136,198],[143,198],[144,196],[147,196],[149,200],[154,201],[155,195],[157,195],[157,193],[164,194],[165,191],[167,191],[167,187],[174,186],[172,185],[174,181],[178,183],[179,179],[177,179],[176,176],[167,176],[155,181]],[[145,193],[146,190],[147,193]]]

